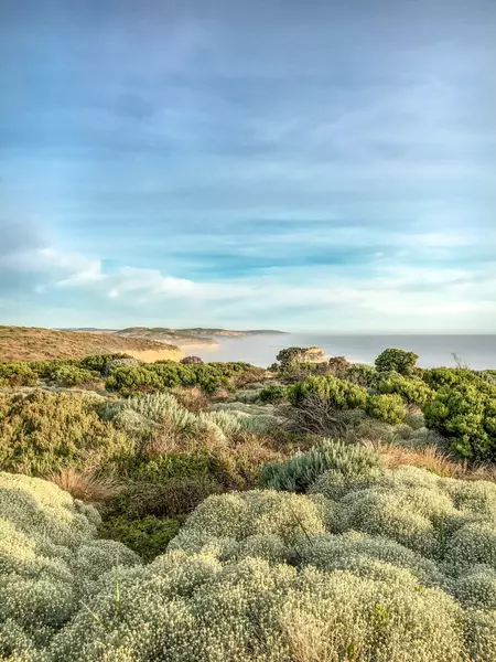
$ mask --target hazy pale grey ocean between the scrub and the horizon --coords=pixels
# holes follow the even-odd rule
[[[411,350],[424,367],[454,366],[452,353],[474,370],[496,369],[496,335],[317,335],[283,334],[226,338],[214,349],[185,348],[204,361],[248,361],[267,367],[279,350],[289,346],[322,348],[327,356],[346,356],[348,361],[373,363],[387,348]]]

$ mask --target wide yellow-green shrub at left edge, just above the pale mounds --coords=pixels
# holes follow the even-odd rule
[[[134,442],[99,416],[95,395],[0,396],[0,467],[30,476],[89,469],[134,452]]]

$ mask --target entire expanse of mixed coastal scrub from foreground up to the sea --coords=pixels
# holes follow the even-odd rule
[[[496,662],[494,371],[316,350],[0,363],[0,660]]]

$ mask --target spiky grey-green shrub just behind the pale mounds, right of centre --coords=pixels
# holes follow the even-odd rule
[[[347,477],[377,468],[379,465],[379,456],[363,446],[347,445],[341,440],[324,440],[322,446],[295,455],[285,462],[271,462],[263,467],[260,484],[272,490],[305,492],[328,470]]]

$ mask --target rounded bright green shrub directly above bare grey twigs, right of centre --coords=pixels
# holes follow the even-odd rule
[[[362,386],[338,380],[333,375],[313,376],[293,384],[288,389],[288,397],[293,406],[303,403],[308,397],[319,397],[337,409],[364,407],[367,391]]]

